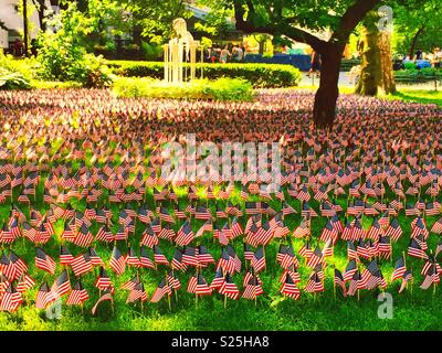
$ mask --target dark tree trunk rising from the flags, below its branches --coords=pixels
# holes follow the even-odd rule
[[[320,82],[313,107],[313,119],[317,127],[332,128],[335,120],[343,52],[344,45],[337,44],[329,44],[320,52]]]

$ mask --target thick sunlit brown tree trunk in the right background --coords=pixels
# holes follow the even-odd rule
[[[377,19],[376,15],[369,17],[362,30],[362,64],[355,89],[362,96],[376,96],[379,90],[385,94],[396,92],[390,33],[379,31]]]

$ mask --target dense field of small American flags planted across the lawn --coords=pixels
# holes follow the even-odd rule
[[[435,289],[442,243],[429,239],[442,234],[442,110],[348,96],[334,129],[315,131],[312,99],[290,90],[234,104],[0,92],[0,309],[17,310],[32,288],[27,304],[64,298],[93,313],[116,291],[128,303],[170,306],[186,292],[255,301],[269,290],[260,276],[270,266],[280,269],[281,296],[297,300],[327,290],[336,247],[347,255],[333,270],[344,297],[394,281],[402,292],[415,271],[421,289]],[[261,188],[263,175],[164,180],[158,147],[186,132],[217,143],[278,141],[282,189]],[[318,218],[325,225],[314,229]],[[390,278],[383,264],[393,266]],[[146,271],[158,274],[150,292]]]

